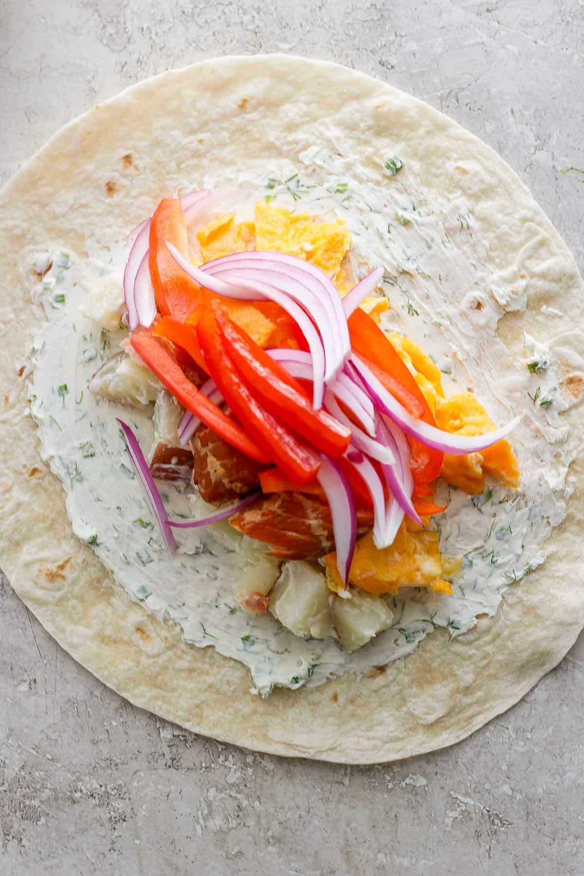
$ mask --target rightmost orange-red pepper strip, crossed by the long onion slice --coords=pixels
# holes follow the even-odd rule
[[[349,316],[348,333],[355,353],[367,358],[377,368],[396,378],[405,386],[406,390],[412,392],[412,395],[419,400],[424,408],[424,413],[421,414],[419,419],[430,423],[431,426],[435,426],[436,420],[434,415],[412,372],[400,359],[398,351],[389,338],[384,336],[383,330],[376,325],[376,322],[361,307],[357,307]],[[415,438],[408,437],[408,443],[412,451],[410,467],[414,484],[427,484],[429,481],[433,481],[440,475],[444,454],[440,450],[426,447],[425,444],[416,441]]]

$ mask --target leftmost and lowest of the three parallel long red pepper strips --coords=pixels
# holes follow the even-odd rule
[[[258,463],[270,462],[269,457],[251,441],[238,423],[231,420],[222,412],[221,407],[199,392],[158,338],[152,337],[150,332],[142,331],[132,335],[130,343],[144,364],[156,374],[160,383],[183,407],[186,407],[187,411],[199,417],[206,426],[221,435],[228,444],[241,450],[245,456],[250,456]]]

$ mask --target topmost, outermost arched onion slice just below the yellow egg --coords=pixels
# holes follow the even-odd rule
[[[204,270],[209,273],[222,271],[224,268],[231,266],[233,263],[241,263],[245,260],[245,264],[250,267],[264,267],[272,270],[285,271],[287,276],[292,279],[298,279],[306,283],[306,275],[312,278],[310,287],[314,289],[314,293],[323,301],[326,306],[330,306],[331,318],[333,325],[338,326],[341,336],[341,349],[343,350],[343,358],[347,358],[351,351],[351,342],[348,336],[347,319],[343,313],[341,306],[341,298],[335,289],[331,280],[320,268],[311,265],[302,258],[286,255],[284,252],[271,250],[256,250],[246,253],[232,253],[229,256],[215,258],[203,265]]]

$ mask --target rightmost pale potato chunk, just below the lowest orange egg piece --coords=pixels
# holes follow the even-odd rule
[[[367,645],[378,632],[391,626],[393,614],[375,593],[351,591],[350,599],[331,597],[331,612],[341,645],[353,653]]]

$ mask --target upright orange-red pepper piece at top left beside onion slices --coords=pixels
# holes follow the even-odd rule
[[[188,255],[188,231],[178,198],[163,198],[154,210],[150,225],[148,265],[158,310],[163,316],[184,321],[193,307],[208,303],[211,293],[202,289],[177,265],[165,241]]]

